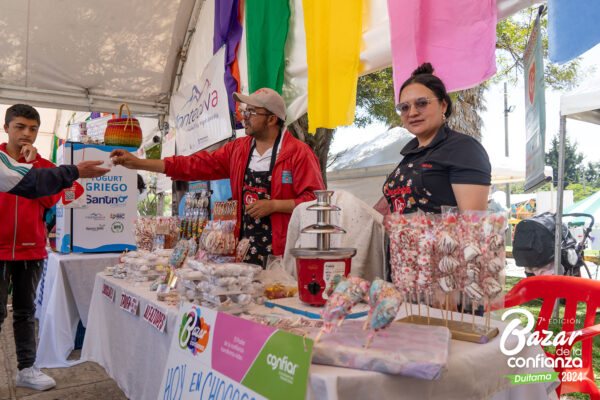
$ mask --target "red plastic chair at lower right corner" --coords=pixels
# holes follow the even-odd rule
[[[587,305],[584,327],[577,331],[581,332],[581,335],[573,342],[573,345],[576,342],[582,342],[582,367],[561,368],[559,365],[556,371],[559,373],[558,376],[561,379],[561,384],[556,389],[556,393],[559,397],[561,394],[572,392],[588,393],[591,400],[600,400],[600,390],[596,386],[594,371],[592,370],[592,341],[594,336],[600,334],[600,324],[594,325],[596,309],[600,307],[600,282],[571,276],[534,276],[519,281],[507,293],[504,305],[507,308],[514,307],[539,298],[543,299],[543,303],[535,331],[540,332],[541,338],[545,337],[541,331],[548,329],[557,299],[562,298],[566,301],[562,330],[566,332],[567,338],[573,335],[574,332],[577,318],[577,304],[583,302]],[[563,355],[571,354],[571,347],[572,345],[568,343],[557,346],[556,353]],[[557,357],[548,352],[546,352],[546,355],[554,359]],[[581,373],[583,380],[562,382],[563,373],[577,374],[574,376],[579,376],[579,373]]]

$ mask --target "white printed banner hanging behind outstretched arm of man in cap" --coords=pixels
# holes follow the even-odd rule
[[[171,98],[169,126],[175,129],[178,155],[193,154],[232,136],[224,76],[222,47],[202,74]]]

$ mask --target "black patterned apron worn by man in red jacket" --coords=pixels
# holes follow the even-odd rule
[[[252,153],[256,143],[252,143],[250,155],[246,162],[244,172],[244,186],[242,188],[242,229],[240,238],[247,238],[250,241],[250,247],[244,257],[244,262],[257,264],[266,267],[269,254],[273,254],[273,235],[271,233],[271,216],[255,219],[246,213],[246,206],[257,200],[271,200],[271,174],[277,160],[277,149],[281,141],[281,133],[275,139],[273,150],[271,151],[271,165],[268,171],[254,171],[248,166],[252,159]]]

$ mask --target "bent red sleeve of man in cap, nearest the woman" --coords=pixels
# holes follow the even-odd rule
[[[298,193],[294,199],[296,206],[305,201],[314,200],[316,196],[313,191],[325,189],[319,160],[308,145],[304,146],[306,146],[302,149],[304,151],[298,152],[299,154],[294,162],[294,170],[299,172],[292,182],[294,193]]]

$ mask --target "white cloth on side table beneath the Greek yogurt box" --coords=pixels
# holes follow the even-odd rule
[[[38,367],[70,367],[81,362],[67,357],[73,351],[79,320],[87,325],[94,277],[118,258],[118,253],[48,255],[36,299]]]

